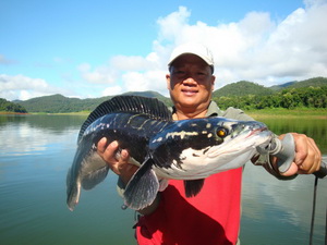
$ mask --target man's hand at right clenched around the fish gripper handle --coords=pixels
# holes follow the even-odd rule
[[[295,158],[290,169],[284,173],[283,176],[291,176],[296,173],[299,174],[311,174],[319,170],[322,162],[322,154],[315,142],[304,134],[291,133],[294,137],[295,144]],[[282,139],[284,134],[278,138]],[[276,163],[278,159],[274,159]]]

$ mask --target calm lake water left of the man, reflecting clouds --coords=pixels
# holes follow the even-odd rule
[[[84,119],[0,118],[1,244],[135,244],[114,174],[84,192],[74,212],[66,208],[65,175]]]

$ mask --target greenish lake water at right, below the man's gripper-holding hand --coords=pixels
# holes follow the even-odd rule
[[[292,181],[279,181],[250,163],[243,177],[242,241],[245,244],[308,244],[314,176],[299,175]],[[326,180],[320,180],[314,244],[324,241],[326,189]],[[271,233],[274,241],[267,240]]]

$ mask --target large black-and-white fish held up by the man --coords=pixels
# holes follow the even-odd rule
[[[169,180],[183,180],[186,196],[197,195],[207,176],[243,167],[271,136],[262,122],[221,117],[173,121],[156,98],[116,96],[99,105],[81,126],[66,175],[68,207],[75,208],[82,188],[92,189],[106,179],[109,166],[97,154],[102,137],[107,144],[117,140],[140,167],[123,193],[125,205],[140,210]]]

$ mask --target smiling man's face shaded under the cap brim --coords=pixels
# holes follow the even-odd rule
[[[183,54],[173,61],[166,76],[170,97],[177,109],[205,110],[211,99],[215,76],[199,57]]]

